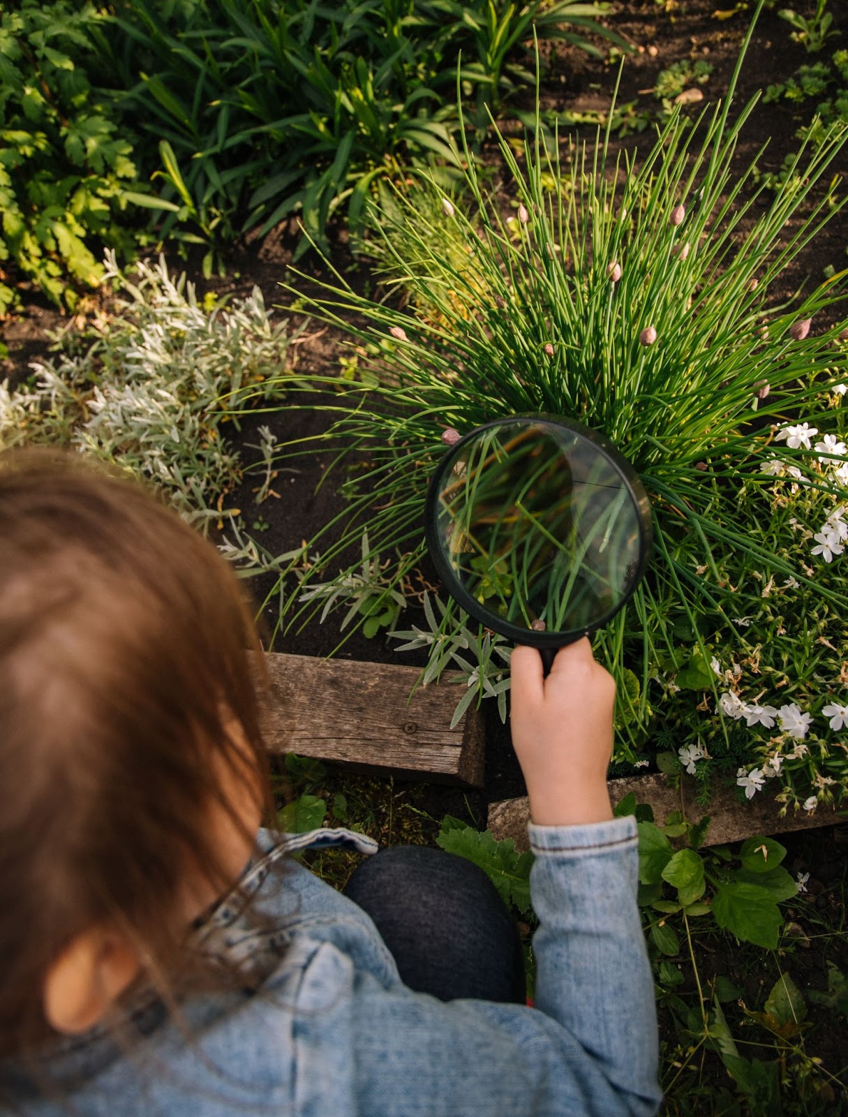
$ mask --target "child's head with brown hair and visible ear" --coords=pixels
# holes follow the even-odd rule
[[[0,1057],[168,974],[267,802],[249,611],[140,486],[0,456]]]

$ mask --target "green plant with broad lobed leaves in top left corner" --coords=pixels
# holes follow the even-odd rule
[[[133,146],[88,73],[104,18],[67,0],[0,13],[0,264],[72,307],[103,280],[103,247],[128,254],[139,236]],[[18,303],[3,279],[0,314]]]

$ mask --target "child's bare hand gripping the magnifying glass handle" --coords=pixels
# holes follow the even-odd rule
[[[573,825],[612,818],[607,766],[612,754],[616,684],[583,638],[556,652],[542,675],[535,648],[512,656],[513,745],[539,825]]]

